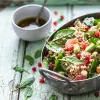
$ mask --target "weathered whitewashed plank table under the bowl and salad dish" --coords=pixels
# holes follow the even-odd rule
[[[100,6],[49,6],[48,8],[52,12],[53,21],[56,21],[61,14],[65,16],[64,21],[56,27],[53,26],[51,31],[77,16],[100,11]],[[33,84],[33,96],[29,100],[49,100],[51,94],[58,95],[58,100],[100,100],[100,97],[94,96],[94,92],[77,96],[63,95],[54,91],[46,83],[39,83],[39,72],[33,73],[31,70],[33,66],[37,67],[37,63],[30,67],[24,60],[24,56],[26,54],[34,56],[34,52],[42,48],[45,41],[26,43],[16,36],[11,25],[11,14],[15,9],[6,8],[0,12],[0,100],[24,100],[23,91],[11,92],[16,84],[30,76],[30,74],[15,72],[12,68],[17,64],[27,69],[36,78]],[[57,17],[53,14],[55,10],[59,12]]]

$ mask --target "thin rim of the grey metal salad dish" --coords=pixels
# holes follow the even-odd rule
[[[66,28],[68,28],[68,25],[69,25],[70,23],[74,23],[76,19],[82,20],[82,19],[84,19],[84,18],[86,18],[86,17],[94,17],[94,18],[95,18],[95,16],[96,16],[96,17],[99,17],[99,16],[100,16],[100,12],[88,13],[88,14],[84,14],[84,15],[75,17],[74,19],[72,19],[72,20],[66,22],[64,25],[62,25],[60,28],[58,28],[55,32],[53,32],[53,33],[49,36],[49,38],[47,39],[47,41],[52,40],[54,34],[55,34],[57,31],[59,31],[59,30],[61,30],[61,29],[64,29],[65,26],[66,26]],[[42,62],[43,62],[43,52],[44,52],[44,50],[45,50],[45,45],[46,45],[46,43],[44,44],[44,47],[43,47],[43,50],[42,50]],[[49,70],[49,69],[48,69],[48,70]],[[59,73],[58,73],[58,74],[59,74]],[[94,76],[94,77],[92,77],[92,78],[88,78],[88,79],[84,79],[84,80],[70,80],[70,82],[72,82],[72,83],[79,83],[79,82],[84,82],[84,81],[93,80],[93,79],[98,78],[98,77],[100,77],[100,76],[98,75],[98,76]],[[61,81],[61,80],[59,80],[59,81]]]

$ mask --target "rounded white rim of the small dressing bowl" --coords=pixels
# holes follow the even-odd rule
[[[48,11],[48,13],[49,13],[49,19],[46,21],[46,23],[45,23],[44,25],[42,25],[42,26],[40,26],[40,27],[38,27],[38,28],[34,28],[34,29],[25,29],[25,28],[19,27],[19,26],[14,22],[14,14],[15,14],[18,10],[23,9],[23,8],[27,8],[27,7],[32,7],[32,6],[34,6],[34,7],[39,7],[39,8],[42,7],[42,5],[39,5],[39,4],[28,4],[28,5],[24,5],[24,6],[18,7],[18,8],[12,13],[12,16],[11,16],[11,22],[12,22],[12,24],[13,24],[14,26],[16,26],[17,28],[22,29],[22,30],[26,30],[26,31],[38,30],[38,29],[41,29],[41,28],[43,28],[44,26],[46,26],[46,25],[50,22],[50,20],[52,19],[52,17],[51,17],[51,11],[50,11],[46,6],[44,6],[44,8],[45,8],[45,9]]]

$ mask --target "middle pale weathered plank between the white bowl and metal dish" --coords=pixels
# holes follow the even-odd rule
[[[62,24],[64,24],[66,21],[67,21],[67,7],[49,7],[50,10],[52,11],[52,18],[53,18],[53,21],[56,21],[60,15],[64,14],[65,16],[65,19],[63,22],[61,22],[59,25],[57,25],[56,27],[55,26],[52,26],[52,31],[58,27],[60,27]],[[53,14],[53,12],[57,10],[59,15],[55,16]],[[31,55],[31,56],[34,56],[34,53],[43,47],[44,45],[44,40],[40,40],[40,41],[37,41],[37,42],[32,42],[32,43],[27,43],[26,44],[26,55]],[[37,62],[40,61],[40,59],[37,59]],[[37,62],[35,62],[35,64],[33,66],[29,66],[28,62],[25,60],[24,61],[24,68],[27,69],[31,74],[34,75],[34,77],[36,78],[34,84],[33,84],[33,96],[29,99],[29,100],[48,100],[50,95],[51,94],[56,94],[58,95],[58,100],[63,100],[63,95],[54,91],[48,84],[40,84],[39,83],[39,79],[40,79],[40,74],[38,71],[36,72],[32,72],[31,68],[32,67],[36,67],[37,70],[38,70],[38,66],[37,66]],[[27,73],[23,73],[22,75],[22,80],[26,79],[30,77],[30,75],[28,75]],[[23,100],[24,99],[24,96],[23,96],[23,91],[20,91],[20,96],[19,96],[19,100]],[[67,98],[67,95],[66,95],[66,100],[68,100]]]

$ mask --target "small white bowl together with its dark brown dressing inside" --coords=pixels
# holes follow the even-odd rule
[[[44,7],[39,17],[39,27],[33,25],[41,5],[30,4],[17,8],[12,14],[12,26],[17,36],[25,41],[37,41],[47,37],[51,29],[51,12]]]

